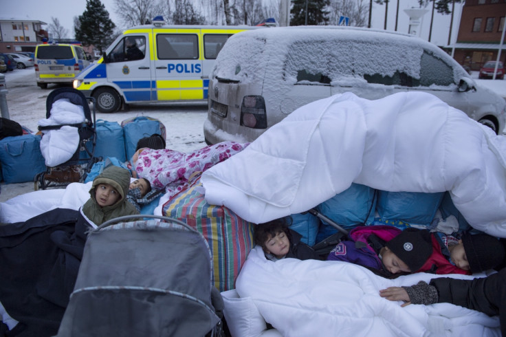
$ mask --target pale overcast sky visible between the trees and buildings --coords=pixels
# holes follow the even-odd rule
[[[73,37],[73,18],[83,14],[86,9],[86,0],[0,0],[1,13],[0,18],[29,18],[34,20],[51,23],[52,17],[57,17]],[[101,0],[109,17],[118,26],[121,25],[118,15],[115,13],[114,0]],[[311,1],[311,0],[309,0]],[[459,18],[461,13],[461,4],[455,4],[454,28],[452,29],[452,42],[456,39]],[[418,8],[417,0],[400,0],[399,1],[399,21],[397,23],[397,31],[407,33],[409,28],[409,17],[404,12],[408,8]],[[387,30],[395,30],[395,11],[397,9],[397,1],[388,3]],[[422,18],[420,37],[428,40],[430,28],[430,15],[432,7],[426,8],[427,12]],[[385,6],[373,4],[373,17],[371,25],[373,28],[383,29],[385,17]],[[47,29],[47,26],[45,26]],[[445,45],[448,42],[448,34],[450,30],[450,15],[442,15],[434,13],[434,23],[432,28],[431,42],[438,45]],[[69,36],[69,37],[71,37]]]

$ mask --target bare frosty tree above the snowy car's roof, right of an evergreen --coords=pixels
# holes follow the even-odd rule
[[[349,17],[349,25],[366,27],[369,15],[367,0],[331,0],[329,5],[329,25],[337,25],[339,18]]]

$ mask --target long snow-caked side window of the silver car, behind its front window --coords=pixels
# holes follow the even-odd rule
[[[406,52],[408,50],[408,52]],[[351,80],[382,85],[419,85],[421,47],[385,41],[321,39],[289,46],[283,79],[290,83],[349,86]],[[397,58],[391,57],[397,53]],[[318,57],[314,57],[318,55]]]

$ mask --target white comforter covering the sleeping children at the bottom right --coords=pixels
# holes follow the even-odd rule
[[[341,261],[273,262],[256,246],[241,269],[236,291],[251,298],[283,336],[500,336],[497,317],[448,303],[401,307],[401,302],[379,295],[386,287],[434,276],[418,273],[389,280]]]

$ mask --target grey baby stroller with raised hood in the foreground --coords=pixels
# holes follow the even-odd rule
[[[142,217],[91,230],[57,336],[224,336],[207,241],[177,219]]]

